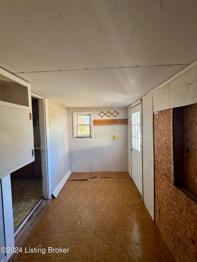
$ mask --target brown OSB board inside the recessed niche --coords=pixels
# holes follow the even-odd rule
[[[184,185],[197,195],[197,103],[184,107]]]

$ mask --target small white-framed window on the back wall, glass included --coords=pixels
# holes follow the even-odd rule
[[[93,137],[92,112],[73,112],[73,137]]]

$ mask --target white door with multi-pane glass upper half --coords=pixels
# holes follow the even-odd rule
[[[141,104],[131,108],[131,177],[142,196]]]

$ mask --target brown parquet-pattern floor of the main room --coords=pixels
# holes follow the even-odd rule
[[[25,247],[46,253],[25,253]],[[48,253],[48,247],[69,250]],[[123,172],[72,173],[22,250],[14,261],[175,261]]]

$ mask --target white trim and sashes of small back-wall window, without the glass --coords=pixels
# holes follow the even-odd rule
[[[90,135],[77,135],[78,115],[89,115],[90,124]],[[93,112],[73,112],[73,138],[93,138]]]

